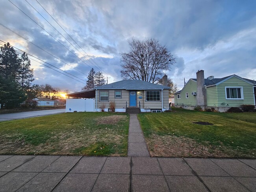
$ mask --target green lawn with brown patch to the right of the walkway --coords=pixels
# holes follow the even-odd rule
[[[173,111],[138,115],[152,156],[256,157],[256,113]]]

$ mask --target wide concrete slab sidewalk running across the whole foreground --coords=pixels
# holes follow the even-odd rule
[[[256,159],[0,155],[0,191],[256,191]]]

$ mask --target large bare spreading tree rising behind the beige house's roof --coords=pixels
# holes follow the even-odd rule
[[[165,46],[156,39],[129,41],[130,51],[121,54],[124,79],[139,79],[151,83],[157,82],[163,76],[163,70],[170,70],[176,59]]]

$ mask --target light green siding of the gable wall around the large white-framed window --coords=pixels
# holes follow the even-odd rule
[[[217,105],[216,105],[217,107],[225,107],[225,106],[239,107],[240,105],[243,105],[243,104],[254,105],[253,86],[239,78],[232,77],[215,87],[217,89]],[[226,99],[225,87],[243,87],[243,100]],[[210,87],[207,87],[207,93],[209,88]],[[210,97],[210,94],[209,94],[209,97]],[[207,94],[207,102],[208,102],[208,94]],[[213,105],[210,105],[210,103],[208,103],[208,106],[213,106]]]

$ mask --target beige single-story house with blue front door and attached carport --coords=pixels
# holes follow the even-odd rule
[[[116,112],[140,111],[157,113],[169,109],[168,90],[167,76],[165,75],[163,76],[163,85],[141,80],[122,80],[95,87],[92,90],[67,94],[66,96],[95,98],[94,111],[101,111],[104,106],[104,110],[109,111],[109,103],[113,101],[116,104]]]

